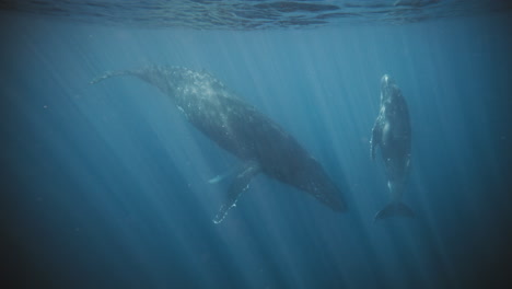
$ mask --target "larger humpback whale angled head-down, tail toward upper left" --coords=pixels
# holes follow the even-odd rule
[[[150,66],[107,71],[91,84],[119,76],[137,77],[159,88],[194,127],[243,162],[213,218],[214,223],[225,218],[238,196],[248,189],[251,180],[260,173],[311,194],[335,211],[346,210],[338,187],[318,161],[212,74],[182,67]]]

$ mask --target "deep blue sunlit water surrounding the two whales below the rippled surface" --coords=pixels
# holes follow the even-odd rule
[[[505,288],[512,276],[510,12],[292,30],[138,28],[0,14],[2,288]],[[137,79],[206,69],[344,188],[336,213],[257,176],[221,224],[238,160]],[[380,78],[411,114],[404,200],[370,159]]]

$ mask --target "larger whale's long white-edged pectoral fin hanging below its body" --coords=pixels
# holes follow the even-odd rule
[[[259,171],[259,165],[255,162],[249,162],[244,165],[244,167],[231,184],[224,203],[222,204],[217,216],[213,218],[214,223],[220,223],[224,220],[228,211],[236,205],[236,200],[238,199],[240,195],[248,189],[251,180],[253,180],[253,177],[258,174]]]

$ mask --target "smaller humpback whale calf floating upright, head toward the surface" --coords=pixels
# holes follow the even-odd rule
[[[392,201],[375,215],[375,221],[395,216],[415,217],[402,203],[410,170],[410,122],[407,103],[400,89],[388,74],[381,79],[381,109],[370,140],[372,159],[381,147]]]

